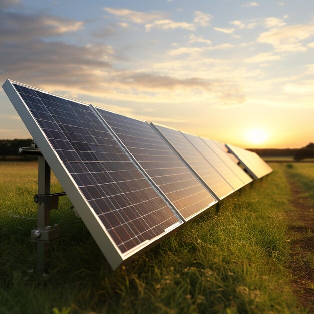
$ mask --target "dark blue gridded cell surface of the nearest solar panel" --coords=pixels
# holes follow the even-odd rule
[[[14,87],[122,253],[179,222],[89,106]]]

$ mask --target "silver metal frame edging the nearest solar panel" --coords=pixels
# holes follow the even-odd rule
[[[81,103],[83,105],[87,105],[87,106],[90,106],[90,105],[71,99],[71,98],[49,93],[45,90],[41,90],[39,88],[35,88],[35,87],[29,86],[23,83],[19,83],[16,81],[12,81],[9,79],[7,79],[2,86],[9,100],[11,101],[17,113],[20,115],[22,121],[27,127],[28,131],[33,136],[34,141],[36,142],[38,148],[42,152],[48,165],[54,172],[56,178],[58,179],[64,191],[66,192],[72,204],[74,205],[75,210],[78,212],[78,214],[82,218],[84,224],[86,225],[89,232],[95,239],[97,245],[99,246],[100,250],[106,257],[107,261],[109,262],[113,270],[125,264],[129,258],[134,257],[135,255],[139,255],[144,250],[147,250],[151,246],[155,245],[156,243],[161,241],[164,237],[166,237],[166,235],[170,235],[175,230],[177,230],[179,226],[183,225],[182,221],[181,222],[178,221],[173,226],[165,229],[163,234],[151,240],[147,240],[139,244],[138,246],[132,248],[131,250],[128,250],[127,252],[122,253],[119,250],[118,246],[114,243],[113,239],[109,235],[108,231],[106,230],[105,226],[101,222],[100,218],[97,216],[97,214],[89,205],[88,201],[86,200],[82,192],[79,190],[78,185],[75,183],[71,174],[64,166],[59,155],[57,154],[57,152],[55,151],[55,149],[52,147],[51,143],[49,142],[46,134],[43,132],[42,128],[40,127],[36,119],[33,117],[29,108],[27,107],[24,100],[20,96],[19,92],[15,89],[13,84],[21,85],[30,89],[43,92],[48,95],[53,95],[53,96],[57,96],[63,99]],[[132,160],[130,159],[130,161]]]

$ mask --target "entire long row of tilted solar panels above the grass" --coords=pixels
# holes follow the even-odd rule
[[[271,171],[236,146],[10,80],[3,88],[113,269],[250,183],[238,162],[255,179]]]

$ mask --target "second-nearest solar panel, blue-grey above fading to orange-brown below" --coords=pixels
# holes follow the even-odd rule
[[[185,220],[217,203],[146,121],[95,109]]]

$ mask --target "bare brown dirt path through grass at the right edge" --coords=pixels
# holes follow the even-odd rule
[[[288,177],[291,189],[291,204],[295,208],[288,226],[292,231],[291,240],[291,282],[293,292],[302,305],[314,313],[314,209],[309,198],[303,196],[299,185]]]

